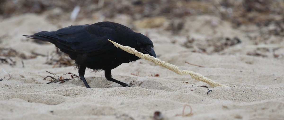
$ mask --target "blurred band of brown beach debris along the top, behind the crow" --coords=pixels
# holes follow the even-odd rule
[[[176,27],[174,32],[178,32],[182,29],[187,16],[196,15],[216,16],[231,22],[234,27],[243,24],[282,26],[284,2],[283,0],[0,0],[0,18],[35,13],[47,14],[47,19],[50,20],[70,20],[70,15],[76,7],[77,10],[79,8],[78,16],[73,18],[76,20],[105,20],[123,16],[128,22],[133,22],[153,18],[151,22],[158,20],[158,22],[177,24],[173,26]],[[156,24],[143,27],[160,26]],[[275,32],[281,34],[280,31]]]

